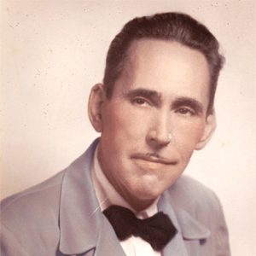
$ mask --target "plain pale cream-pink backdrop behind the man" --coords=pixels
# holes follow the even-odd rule
[[[226,57],[218,130],[186,173],[222,201],[233,256],[256,255],[255,10],[235,0],[2,1],[1,198],[59,172],[98,136],[87,99],[121,26],[181,11],[210,28]]]

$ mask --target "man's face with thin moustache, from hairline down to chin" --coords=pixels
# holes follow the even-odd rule
[[[161,195],[206,143],[208,84],[201,52],[155,39],[131,45],[112,98],[99,107],[97,130],[102,170],[133,207]]]

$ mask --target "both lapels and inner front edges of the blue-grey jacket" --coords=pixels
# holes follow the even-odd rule
[[[104,250],[101,247],[105,245],[109,250],[112,244],[115,250],[113,255],[125,255],[112,227],[103,218],[90,177],[98,141],[64,170],[60,200],[60,251],[64,254],[84,253],[97,247],[96,255],[102,255]],[[189,212],[175,207],[171,195],[172,189],[166,190],[158,203],[159,211],[168,214],[177,228],[177,235],[164,249],[164,255],[179,253],[185,256],[188,254],[183,239],[207,238],[210,231]]]

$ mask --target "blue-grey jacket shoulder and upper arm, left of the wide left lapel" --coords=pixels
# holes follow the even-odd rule
[[[59,172],[1,202],[1,246],[4,255],[31,255],[30,248],[35,251],[42,242],[45,245],[43,251],[49,250],[46,248],[49,244],[55,250],[59,237],[58,212],[64,173]]]

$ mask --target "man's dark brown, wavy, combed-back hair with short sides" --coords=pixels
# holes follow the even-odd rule
[[[223,67],[224,57],[219,54],[219,44],[206,26],[189,15],[163,13],[130,20],[113,38],[108,49],[103,84],[107,96],[113,93],[113,85],[125,66],[131,43],[140,38],[156,38],[176,41],[191,49],[198,49],[207,58],[210,71],[210,100],[208,112],[212,110],[218,74]]]

